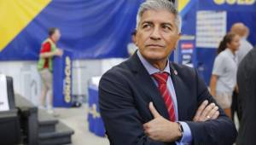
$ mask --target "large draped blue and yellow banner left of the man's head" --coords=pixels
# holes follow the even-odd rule
[[[0,61],[38,60],[49,27],[74,59],[128,56],[126,45],[143,0],[13,0],[0,3]],[[15,13],[14,13],[15,12]]]

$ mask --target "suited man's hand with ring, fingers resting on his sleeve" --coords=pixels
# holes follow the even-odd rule
[[[197,109],[193,121],[207,121],[209,119],[217,119],[219,115],[218,106],[214,103],[208,105],[208,101],[201,103],[201,106]]]

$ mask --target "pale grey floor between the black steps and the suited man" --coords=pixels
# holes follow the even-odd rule
[[[72,145],[109,145],[106,137],[96,136],[88,130],[88,110],[86,105],[68,109],[56,108],[55,112],[59,114],[57,119],[60,119],[64,124],[75,131],[72,137]]]

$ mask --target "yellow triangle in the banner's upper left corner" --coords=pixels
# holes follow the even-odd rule
[[[0,0],[0,52],[51,0]]]

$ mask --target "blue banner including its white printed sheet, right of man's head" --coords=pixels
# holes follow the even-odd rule
[[[179,3],[187,3],[180,13],[183,18],[183,36],[195,36],[195,49],[192,61],[198,69],[201,77],[207,84],[212,75],[212,65],[216,57],[216,49],[219,41],[230,27],[236,22],[244,23],[250,30],[248,41],[256,44],[256,0],[181,0]],[[191,55],[183,55],[179,42],[179,63],[191,61]],[[192,42],[191,42],[192,43]],[[184,45],[184,46],[192,46]],[[186,50],[191,52],[191,50]],[[185,57],[184,57],[185,56]]]

